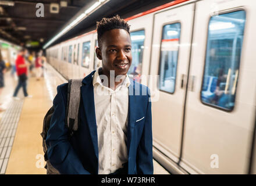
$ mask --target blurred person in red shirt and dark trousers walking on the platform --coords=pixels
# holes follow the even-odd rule
[[[19,77],[19,82],[17,87],[15,88],[15,92],[13,94],[13,98],[19,100],[20,98],[17,97],[17,94],[20,88],[23,88],[23,93],[26,98],[31,98],[31,95],[27,94],[27,67],[30,65],[29,63],[25,62],[24,56],[26,56],[27,50],[21,49],[19,54],[17,55],[17,59],[15,61],[16,69],[17,69],[17,76]]]

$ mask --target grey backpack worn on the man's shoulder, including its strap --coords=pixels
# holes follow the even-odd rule
[[[69,129],[69,138],[71,138],[75,131],[79,128],[79,108],[80,108],[80,87],[82,85],[82,79],[69,80],[67,84],[67,108],[66,108],[66,122],[65,125]],[[44,160],[46,161],[45,169],[47,174],[60,174],[47,157],[47,145],[45,140],[47,138],[47,132],[50,126],[51,117],[54,113],[54,106],[52,106],[46,115],[44,116],[44,123],[42,126],[42,147],[44,149]]]

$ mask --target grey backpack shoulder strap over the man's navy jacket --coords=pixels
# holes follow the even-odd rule
[[[81,85],[83,79],[70,79],[67,85],[67,110],[66,126],[69,128],[70,135],[79,128],[79,108],[81,98]]]

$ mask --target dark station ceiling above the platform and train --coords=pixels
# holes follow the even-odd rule
[[[95,23],[102,17],[118,14],[126,18],[171,1],[173,0],[108,1],[52,45],[95,29]],[[81,10],[90,7],[94,2],[96,0],[1,0],[0,38],[29,49],[41,49],[72,17],[79,15]],[[37,17],[36,12],[41,7],[36,7],[37,3],[44,5],[44,17]],[[50,12],[51,3],[58,3],[58,13]]]

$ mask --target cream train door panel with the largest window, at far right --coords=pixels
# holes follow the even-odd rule
[[[255,120],[256,2],[209,0],[195,7],[180,165],[246,174]]]

